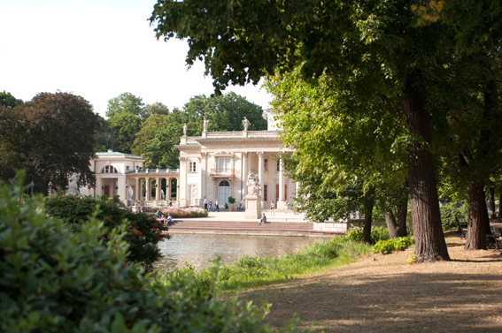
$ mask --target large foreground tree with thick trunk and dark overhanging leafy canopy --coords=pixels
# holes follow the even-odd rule
[[[158,38],[187,39],[187,63],[204,59],[217,92],[257,83],[301,63],[304,79],[325,72],[381,82],[401,103],[409,144],[409,185],[418,261],[448,260],[431,151],[426,78],[452,54],[449,25],[417,26],[413,2],[313,0],[207,2],[158,0],[151,16]],[[434,3],[436,4],[436,3]],[[437,11],[441,11],[442,6]],[[367,63],[378,63],[369,71]],[[368,85],[367,94],[375,94]]]

